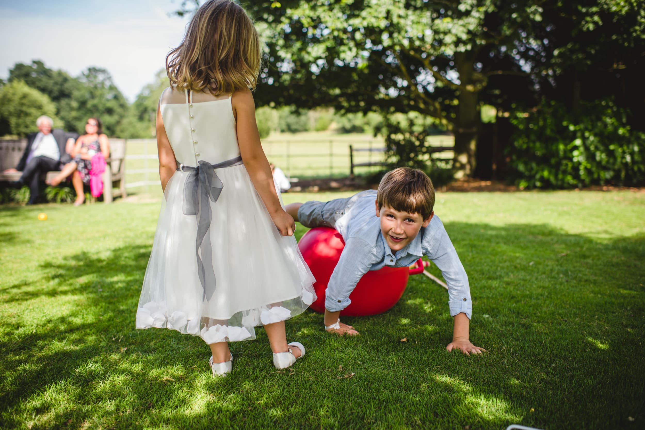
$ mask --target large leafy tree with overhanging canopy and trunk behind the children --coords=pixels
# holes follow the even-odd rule
[[[198,5],[184,0],[177,14]],[[463,174],[474,171],[482,104],[530,109],[542,97],[566,95],[575,107],[584,79],[589,87],[606,81],[602,90],[615,95],[615,72],[642,70],[641,0],[283,0],[244,6],[266,42],[260,102],[422,113],[454,133],[454,164]]]

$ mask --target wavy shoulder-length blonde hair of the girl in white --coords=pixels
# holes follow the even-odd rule
[[[260,66],[257,30],[244,9],[231,0],[208,0],[200,6],[184,40],[166,56],[170,84],[213,96],[253,91]]]

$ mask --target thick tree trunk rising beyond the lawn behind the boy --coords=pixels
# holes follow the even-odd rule
[[[459,72],[462,89],[459,90],[459,108],[455,118],[453,133],[455,134],[455,158],[453,169],[455,178],[461,179],[475,173],[475,151],[477,149],[477,133],[481,118],[479,116],[479,97],[473,88],[472,52],[455,53],[455,66]]]

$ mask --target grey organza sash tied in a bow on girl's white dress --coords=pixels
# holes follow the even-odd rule
[[[184,215],[197,217],[197,238],[195,239],[195,254],[197,254],[197,272],[199,281],[204,288],[203,301],[210,300],[215,292],[215,269],[213,269],[213,250],[210,245],[210,223],[213,212],[210,201],[217,201],[224,184],[217,177],[215,169],[242,164],[242,156],[237,156],[225,162],[210,164],[199,160],[197,167],[180,165],[177,171],[190,173],[184,184]],[[200,256],[201,251],[201,256]]]

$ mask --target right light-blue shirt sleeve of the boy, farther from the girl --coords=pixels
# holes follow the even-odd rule
[[[439,221],[439,220],[437,220]],[[448,307],[450,315],[465,313],[468,319],[473,312],[473,303],[470,298],[470,285],[468,275],[457,256],[457,251],[448,237],[448,232],[441,221],[433,235],[433,246],[428,249],[427,256],[437,265],[448,285]]]

